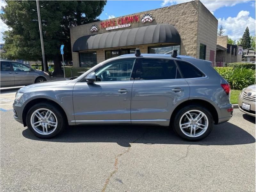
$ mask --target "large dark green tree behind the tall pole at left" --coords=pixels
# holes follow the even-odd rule
[[[10,27],[3,34],[5,56],[10,59],[42,60],[36,1],[5,1],[1,19]],[[106,1],[39,1],[47,60],[54,62],[60,75],[60,45],[64,59],[72,60],[70,27],[97,21]]]

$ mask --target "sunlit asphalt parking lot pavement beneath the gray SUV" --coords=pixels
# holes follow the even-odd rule
[[[43,140],[13,119],[14,95],[1,91],[1,191],[255,191],[255,118],[238,109],[199,142],[102,125]]]

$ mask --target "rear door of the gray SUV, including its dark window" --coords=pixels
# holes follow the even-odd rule
[[[132,123],[169,125],[174,108],[189,98],[189,86],[174,60],[136,61],[132,86]]]

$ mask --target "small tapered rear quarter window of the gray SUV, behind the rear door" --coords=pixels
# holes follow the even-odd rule
[[[202,74],[197,68],[195,68],[190,63],[187,63],[185,61],[179,61],[179,60],[176,60],[176,62],[184,78],[187,79],[187,78],[204,77],[204,74]]]

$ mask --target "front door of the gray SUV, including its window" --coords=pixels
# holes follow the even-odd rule
[[[73,90],[76,124],[131,124],[131,79],[135,59],[110,61],[95,69],[96,81],[77,82]]]

